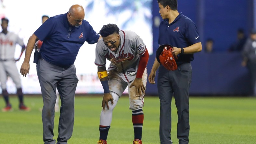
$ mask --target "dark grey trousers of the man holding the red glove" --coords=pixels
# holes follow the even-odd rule
[[[192,79],[190,63],[178,66],[177,70],[168,71],[159,67],[157,87],[160,99],[160,142],[171,144],[171,102],[174,93],[178,110],[177,138],[179,144],[188,144],[189,135],[189,87]]]

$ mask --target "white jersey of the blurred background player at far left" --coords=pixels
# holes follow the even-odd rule
[[[16,43],[24,45],[19,36],[13,32],[0,33],[0,60],[14,60]]]

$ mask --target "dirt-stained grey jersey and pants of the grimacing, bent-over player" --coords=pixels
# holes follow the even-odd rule
[[[108,68],[109,90],[113,100],[118,101],[123,91],[128,86],[130,109],[136,110],[143,107],[144,95],[136,96],[135,86],[129,88],[134,81],[140,55],[146,52],[146,46],[143,40],[133,31],[119,31],[121,43],[117,52],[112,52],[103,42],[99,40],[96,45],[95,65],[105,66],[106,59],[110,61]],[[142,82],[146,87],[147,69],[145,69]]]

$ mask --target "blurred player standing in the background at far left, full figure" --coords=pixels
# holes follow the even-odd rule
[[[7,18],[1,19],[2,32],[0,33],[0,82],[2,94],[6,102],[6,107],[2,109],[3,112],[11,111],[12,105],[9,102],[9,94],[6,90],[7,75],[10,76],[17,88],[17,95],[19,97],[19,109],[29,111],[23,103],[23,92],[21,88],[20,76],[16,67],[15,61],[19,61],[23,51],[25,50],[24,42],[19,36],[7,30],[9,20]],[[18,59],[14,59],[16,44],[19,44],[21,54]]]

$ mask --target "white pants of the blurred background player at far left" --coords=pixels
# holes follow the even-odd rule
[[[15,83],[16,88],[17,89],[21,88],[20,75],[14,59],[6,60],[6,61],[0,60],[0,83],[1,83],[1,88],[3,90],[6,89],[6,81],[7,81],[6,73],[9,73],[9,76],[12,78],[12,81]]]

